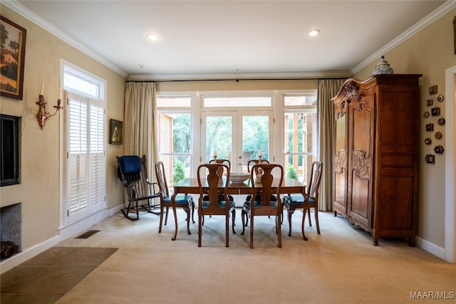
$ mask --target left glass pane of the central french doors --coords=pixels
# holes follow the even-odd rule
[[[232,125],[231,116],[208,116],[206,118],[206,162],[214,158],[229,159],[232,156]]]

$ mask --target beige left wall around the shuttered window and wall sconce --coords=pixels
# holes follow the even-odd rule
[[[60,227],[60,129],[61,116],[51,117],[43,130],[38,126],[38,94],[45,83],[44,97],[51,111],[58,98],[60,59],[70,61],[108,80],[108,110],[110,118],[123,120],[125,78],[64,43],[11,9],[1,5],[1,15],[26,28],[24,68],[24,98],[1,98],[0,112],[21,117],[20,172],[21,184],[0,188],[0,204],[22,203],[22,250],[58,236]],[[63,105],[65,106],[65,105]],[[64,109],[65,110],[65,109]],[[51,111],[53,112],[53,111]],[[62,111],[63,112],[63,111]],[[108,130],[107,130],[108,132]],[[107,139],[108,141],[108,139]],[[115,155],[123,154],[122,145],[109,145],[107,152],[108,209],[121,204],[123,189],[115,178]]]

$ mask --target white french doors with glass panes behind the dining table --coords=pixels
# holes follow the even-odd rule
[[[232,172],[247,172],[249,159],[273,159],[273,111],[202,112],[202,162],[229,159]]]

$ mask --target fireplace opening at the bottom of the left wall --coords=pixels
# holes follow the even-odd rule
[[[22,251],[22,204],[0,208],[1,261]]]

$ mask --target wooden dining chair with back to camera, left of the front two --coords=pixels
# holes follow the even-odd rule
[[[226,172],[226,179],[219,174]],[[206,175],[207,174],[207,175]],[[236,210],[234,201],[228,197],[229,167],[226,164],[201,164],[198,166],[197,179],[199,187],[198,199],[198,247],[201,247],[202,226],[204,215],[225,216],[225,246],[229,247],[229,214],[232,214],[232,229],[234,231],[234,220]]]

